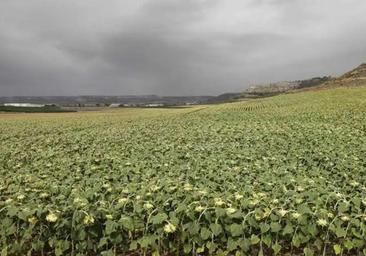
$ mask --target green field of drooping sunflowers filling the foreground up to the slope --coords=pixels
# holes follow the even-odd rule
[[[0,248],[366,254],[365,156],[365,87],[0,114]]]

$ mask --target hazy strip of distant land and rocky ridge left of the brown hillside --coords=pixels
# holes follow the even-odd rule
[[[223,93],[218,96],[157,96],[157,95],[131,95],[131,96],[14,96],[0,97],[0,111],[32,112],[32,104],[47,105],[43,108],[45,112],[64,110],[88,110],[90,108],[103,107],[171,107],[198,104],[215,104],[237,100],[246,100],[253,98],[262,98],[286,93],[292,90],[310,88],[321,85],[332,78],[329,76],[316,77],[307,80],[298,80],[290,82],[277,82],[266,85],[251,86],[243,92]],[[27,110],[21,105],[30,104]],[[1,106],[3,105],[3,106]],[[9,105],[13,105],[9,108]],[[50,107],[50,106],[53,106]],[[24,107],[24,106],[23,106]],[[37,107],[37,105],[35,105]],[[39,107],[39,106],[38,106]],[[42,112],[42,109],[35,109],[36,112]]]

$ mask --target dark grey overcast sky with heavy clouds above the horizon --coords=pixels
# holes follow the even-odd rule
[[[365,0],[0,0],[0,96],[215,95],[366,61]]]

